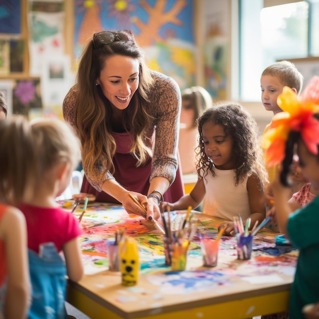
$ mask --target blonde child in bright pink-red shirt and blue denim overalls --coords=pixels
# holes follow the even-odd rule
[[[37,183],[33,197],[19,205],[28,229],[32,305],[29,318],[66,318],[66,281],[78,281],[83,264],[77,219],[55,201],[78,164],[79,142],[71,127],[58,119],[31,122],[37,151]],[[65,262],[60,256],[63,252]]]

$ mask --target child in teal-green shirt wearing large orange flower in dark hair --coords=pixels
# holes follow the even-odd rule
[[[279,173],[269,185],[267,196],[274,199],[280,228],[290,242],[299,249],[294,283],[291,285],[289,318],[302,318],[302,308],[319,301],[319,197],[294,214],[288,203],[290,185],[288,176],[297,146],[302,174],[314,191],[319,191],[319,104],[298,99],[289,88],[279,96],[285,119],[274,117],[268,135],[264,136],[268,165],[280,165]],[[289,132],[289,133],[287,133]],[[276,141],[276,142],[275,142]],[[274,144],[275,142],[275,144]],[[278,144],[280,142],[280,144]],[[276,146],[276,147],[275,147]]]

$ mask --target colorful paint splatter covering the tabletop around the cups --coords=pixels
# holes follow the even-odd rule
[[[71,201],[61,201],[61,205],[70,210],[73,207]],[[80,204],[76,207],[74,215],[79,216],[82,211],[83,204]],[[178,229],[185,214],[185,211],[171,212],[173,229]],[[165,265],[162,234],[157,231],[149,231],[140,224],[140,219],[140,216],[128,215],[121,206],[102,203],[88,204],[81,221],[84,232],[82,251],[86,274],[108,270],[108,240],[114,240],[116,230],[123,227],[128,235],[135,237],[138,241],[140,273],[145,275],[150,283],[160,286],[159,291],[164,295],[190,294],[194,291],[210,290],[217,286],[232,285],[238,278],[278,274],[293,275],[295,272],[296,256],[283,255],[283,253],[293,251],[294,248],[291,246],[279,248],[275,244],[276,233],[264,229],[255,236],[252,258],[246,261],[236,258],[236,239],[222,236],[218,264],[211,269],[203,267],[200,240],[199,236],[195,235],[188,253],[190,266],[186,271],[172,272],[171,267]],[[196,213],[191,215],[190,223],[198,219],[200,232],[204,233],[206,237],[216,238],[220,220]],[[278,251],[281,253],[278,254]],[[106,272],[105,275],[114,276],[115,274]]]

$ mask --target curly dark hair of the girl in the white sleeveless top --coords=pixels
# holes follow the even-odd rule
[[[241,104],[223,101],[207,111],[205,111],[198,119],[199,143],[196,148],[197,163],[196,169],[199,175],[204,173],[205,168],[212,172],[215,176],[214,164],[210,161],[204,151],[202,127],[206,122],[220,124],[224,127],[225,134],[233,139],[233,157],[236,164],[234,170],[236,172],[235,184],[237,185],[247,175],[256,173],[263,182],[268,183],[268,173],[265,169],[263,151],[261,148],[259,127],[248,111]]]

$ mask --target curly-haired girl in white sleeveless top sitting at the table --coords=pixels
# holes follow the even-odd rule
[[[165,209],[197,207],[204,199],[203,212],[226,223],[225,234],[234,235],[233,217],[251,227],[265,217],[264,184],[267,183],[259,129],[253,117],[238,103],[221,102],[197,120],[198,181],[190,194]],[[206,195],[206,196],[205,196]]]

